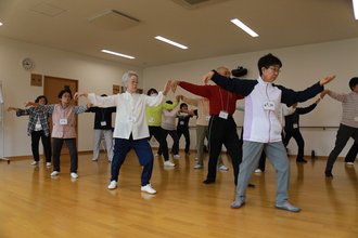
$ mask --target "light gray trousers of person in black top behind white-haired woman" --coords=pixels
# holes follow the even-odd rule
[[[100,158],[100,146],[101,141],[104,138],[105,148],[107,151],[108,160],[113,159],[113,132],[112,130],[100,130],[94,129],[93,134],[93,159],[98,160]]]

